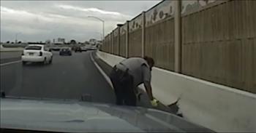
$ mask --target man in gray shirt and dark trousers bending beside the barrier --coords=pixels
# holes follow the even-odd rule
[[[136,105],[137,86],[144,84],[151,105],[157,106],[151,89],[151,69],[154,60],[151,57],[130,57],[113,67],[110,80],[116,94],[117,105]]]

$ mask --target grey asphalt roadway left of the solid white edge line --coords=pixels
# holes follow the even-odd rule
[[[1,65],[1,90],[15,97],[80,99],[114,103],[113,89],[95,67],[90,52],[59,56],[53,52],[51,65],[13,63]]]

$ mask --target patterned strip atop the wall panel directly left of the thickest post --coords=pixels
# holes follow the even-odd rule
[[[162,3],[146,12],[146,27],[157,23],[159,20],[165,20],[173,17],[173,13],[174,2],[169,0],[162,1]]]

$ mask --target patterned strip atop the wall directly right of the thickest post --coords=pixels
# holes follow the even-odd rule
[[[196,12],[203,7],[214,4],[215,2],[222,2],[227,0],[184,0],[181,3],[181,15]]]

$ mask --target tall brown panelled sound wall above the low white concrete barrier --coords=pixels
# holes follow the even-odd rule
[[[123,57],[256,93],[255,12],[255,0],[163,0],[125,23]]]

